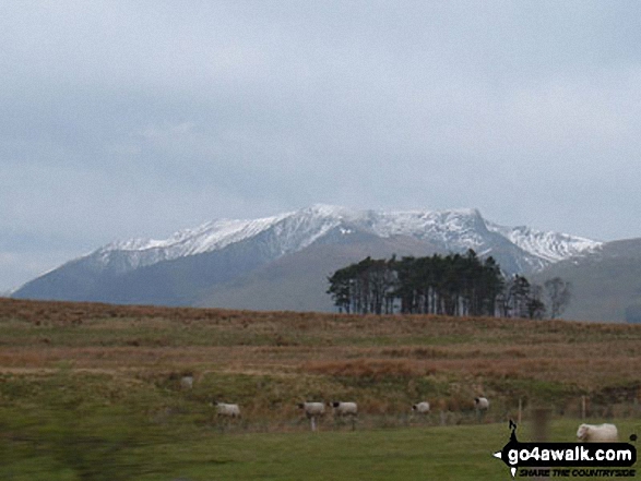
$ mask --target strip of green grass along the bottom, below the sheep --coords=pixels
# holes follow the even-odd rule
[[[157,430],[136,425],[122,412],[94,412],[75,422],[72,417],[59,412],[41,419],[40,424],[14,419],[9,441],[4,425],[2,479],[510,479],[507,467],[491,456],[508,442],[506,423],[363,431],[335,430],[324,423],[317,433],[238,433],[213,426]],[[549,440],[573,441],[578,423],[555,420]],[[624,436],[641,428],[638,421],[617,424]],[[526,423],[520,426],[520,441],[532,441],[530,428]],[[36,433],[37,438],[29,437]]]

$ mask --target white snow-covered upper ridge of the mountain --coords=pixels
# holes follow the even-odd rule
[[[313,226],[314,220],[321,223]],[[211,252],[254,237],[270,228],[282,228],[289,221],[296,224],[295,230],[300,230],[306,221],[317,232],[302,241],[290,241],[282,245],[282,254],[295,252],[311,244],[331,228],[344,225],[354,225],[364,230],[370,230],[379,237],[408,236],[431,241],[440,238],[443,245],[453,245],[454,250],[461,244],[470,249],[483,244],[479,230],[496,232],[525,252],[544,260],[556,262],[575,255],[586,249],[594,249],[602,242],[570,236],[560,232],[541,231],[525,226],[506,227],[487,221],[478,209],[460,208],[444,211],[355,211],[341,206],[314,204],[311,207],[258,219],[217,219],[205,223],[193,229],[182,229],[165,240],[129,239],[106,244],[87,254],[106,258],[110,252],[123,251],[133,253],[150,253],[150,258],[140,258],[134,263],[138,266],[150,265],[156,262],[173,260],[180,256]],[[454,232],[454,233],[453,233]],[[349,233],[346,231],[345,233]],[[456,239],[452,239],[456,237]],[[538,239],[538,242],[535,240]],[[565,242],[563,242],[565,241]],[[560,249],[559,249],[560,246]],[[86,256],[84,256],[86,257]],[[141,256],[142,257],[142,256]]]

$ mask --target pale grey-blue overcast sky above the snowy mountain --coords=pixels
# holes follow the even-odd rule
[[[3,0],[0,45],[0,292],[317,203],[641,237],[637,0]]]

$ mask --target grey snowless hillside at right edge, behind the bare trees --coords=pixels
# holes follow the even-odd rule
[[[641,239],[607,242],[594,252],[549,265],[533,280],[559,276],[572,284],[562,317],[626,321],[626,310],[641,304]]]

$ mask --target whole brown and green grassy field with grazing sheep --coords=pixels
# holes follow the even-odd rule
[[[521,441],[533,408],[573,441],[582,399],[640,434],[640,361],[632,325],[0,299],[0,479],[509,479],[490,455],[519,402]],[[332,399],[358,402],[356,431],[310,432],[296,402]]]

